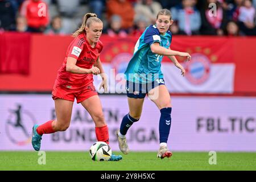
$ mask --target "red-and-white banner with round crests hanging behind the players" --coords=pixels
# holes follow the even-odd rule
[[[107,69],[115,69],[115,73],[123,73],[133,56],[133,39],[104,39],[104,50],[101,53],[102,63]],[[212,37],[178,37],[174,38],[171,49],[189,52],[191,61],[184,62],[187,57],[176,56],[186,70],[185,78],[180,70],[167,56],[162,62],[162,72],[167,89],[171,93],[229,93],[234,92],[234,43],[229,38]],[[108,71],[106,71],[109,73]],[[116,82],[112,80],[110,82]],[[114,90],[113,85],[110,89]]]

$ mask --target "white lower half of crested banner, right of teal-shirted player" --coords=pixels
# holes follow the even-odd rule
[[[198,68],[203,73],[196,72],[197,68],[194,69],[195,72],[186,71],[185,77],[183,77],[180,74],[180,69],[176,68],[175,65],[163,64],[162,71],[168,90],[171,93],[234,92],[234,64],[212,64],[209,66],[209,72],[201,70],[205,68]]]

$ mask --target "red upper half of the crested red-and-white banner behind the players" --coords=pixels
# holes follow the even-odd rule
[[[133,54],[134,46],[138,38],[110,38],[102,36],[101,41],[104,49],[101,52],[101,61],[110,63],[119,53]],[[234,40],[233,38],[222,38],[212,36],[174,36],[170,48],[176,51],[201,53],[208,57],[212,63],[234,62]],[[184,57],[176,56],[179,61]],[[163,61],[170,62],[167,56]]]

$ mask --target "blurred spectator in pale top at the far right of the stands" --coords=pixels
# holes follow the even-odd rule
[[[238,24],[240,29],[246,35],[256,35],[255,28],[255,9],[250,0],[245,0],[243,6],[240,7],[238,15]]]

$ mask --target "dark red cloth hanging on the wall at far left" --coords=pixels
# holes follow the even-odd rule
[[[0,34],[0,73],[28,75],[31,34]]]

